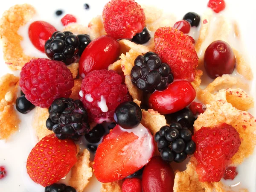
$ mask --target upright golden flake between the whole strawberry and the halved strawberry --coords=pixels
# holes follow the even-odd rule
[[[71,169],[69,184],[73,186],[77,192],[83,192],[92,176],[93,169],[90,167],[90,152],[84,149],[78,161]]]

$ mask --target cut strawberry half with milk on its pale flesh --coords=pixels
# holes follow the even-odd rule
[[[151,133],[143,125],[123,129],[116,125],[97,148],[94,175],[102,183],[123,179],[137,172],[154,154]]]

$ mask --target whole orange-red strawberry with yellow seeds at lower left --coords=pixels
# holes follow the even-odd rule
[[[35,183],[49,186],[67,175],[77,161],[76,153],[76,144],[72,140],[59,140],[49,134],[29,153],[27,173]]]

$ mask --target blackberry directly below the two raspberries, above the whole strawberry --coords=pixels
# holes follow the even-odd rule
[[[59,98],[52,102],[46,127],[61,140],[78,140],[81,135],[90,131],[87,112],[82,102],[71,98]]]

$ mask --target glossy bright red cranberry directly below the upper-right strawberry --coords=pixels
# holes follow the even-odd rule
[[[155,91],[148,99],[150,108],[161,114],[170,114],[185,108],[196,93],[189,81],[174,81],[164,91]]]

